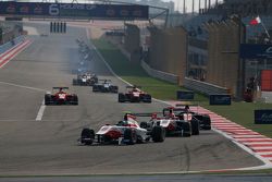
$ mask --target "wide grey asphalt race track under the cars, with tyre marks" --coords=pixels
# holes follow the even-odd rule
[[[262,165],[213,131],[164,143],[79,146],[76,139],[84,126],[98,130],[120,121],[122,111],[159,111],[165,104],[119,104],[115,94],[72,86],[79,66],[111,78],[121,90],[125,84],[111,75],[97,54],[81,63],[75,39],[87,39],[85,28],[69,27],[67,34],[41,37],[49,25],[26,25],[37,28],[38,34],[28,36],[33,44],[0,69],[0,175],[186,172]],[[69,86],[79,105],[47,106],[41,120],[36,120],[52,86]]]

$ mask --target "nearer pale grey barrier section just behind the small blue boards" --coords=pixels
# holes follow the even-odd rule
[[[189,77],[184,78],[184,87],[202,93],[205,95],[230,94],[226,87],[220,87],[207,82],[196,81]]]

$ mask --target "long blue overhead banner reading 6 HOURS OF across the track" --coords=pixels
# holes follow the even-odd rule
[[[0,1],[1,15],[147,20],[148,5]]]

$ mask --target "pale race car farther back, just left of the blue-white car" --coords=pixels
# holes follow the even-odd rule
[[[73,80],[73,85],[92,86],[97,83],[97,75],[90,73],[77,74],[77,78]]]

